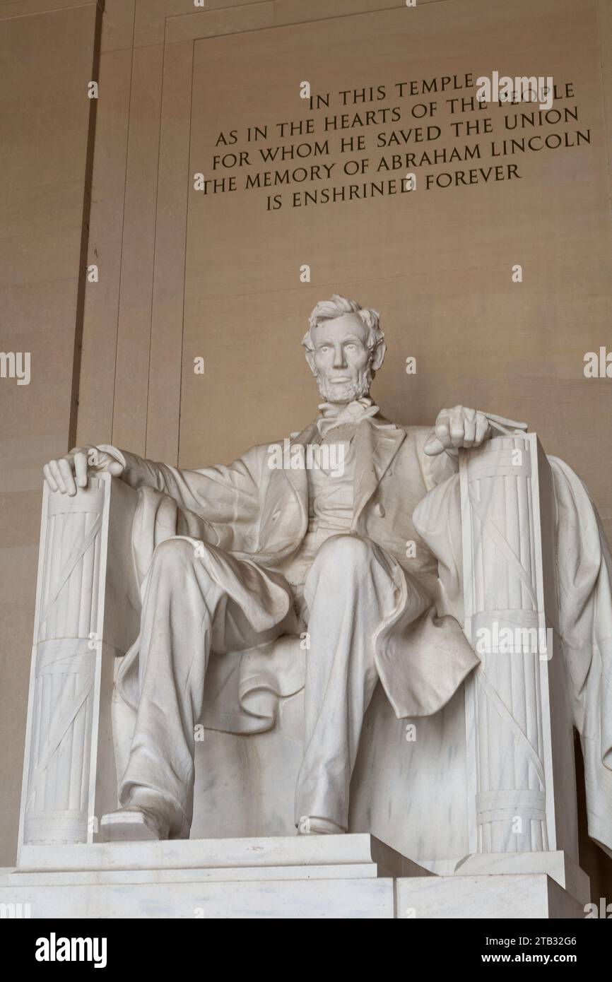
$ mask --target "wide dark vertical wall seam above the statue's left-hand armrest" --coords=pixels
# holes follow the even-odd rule
[[[91,76],[88,82],[98,82],[100,72],[100,40],[102,35],[103,0],[98,0],[95,7],[95,26],[93,28],[93,56],[91,60]],[[99,95],[99,92],[98,92]],[[85,305],[85,290],[87,283],[87,250],[89,247],[89,217],[91,212],[91,181],[93,175],[93,149],[95,146],[95,121],[97,117],[97,99],[89,99],[89,119],[87,123],[87,142],[85,148],[84,182],[83,182],[83,213],[81,218],[81,247],[79,249],[79,279],[77,287],[77,310],[75,317],[75,345],[73,351],[73,372],[70,396],[70,413],[68,420],[68,447],[74,447],[77,442],[77,419],[79,415],[79,387],[81,383],[81,355],[83,352],[83,320]]]

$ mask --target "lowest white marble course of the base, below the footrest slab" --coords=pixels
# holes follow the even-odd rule
[[[392,878],[363,868],[0,871],[0,903],[28,904],[33,918],[584,917],[583,904],[545,874]]]

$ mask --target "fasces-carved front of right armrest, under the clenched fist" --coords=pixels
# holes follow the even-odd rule
[[[460,452],[465,631],[481,660],[467,688],[473,852],[556,847],[538,449],[516,433]]]

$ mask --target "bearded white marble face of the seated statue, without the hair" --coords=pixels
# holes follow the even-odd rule
[[[351,403],[369,392],[372,380],[368,331],[357,314],[326,320],[310,333],[308,358],[318,390],[329,403]]]

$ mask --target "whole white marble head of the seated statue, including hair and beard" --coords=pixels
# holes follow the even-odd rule
[[[328,403],[367,396],[387,346],[376,310],[334,294],[310,314],[302,344],[318,391]]]

